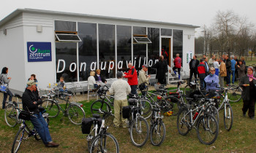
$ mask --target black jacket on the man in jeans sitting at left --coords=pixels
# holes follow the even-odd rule
[[[37,103],[34,104],[34,101]],[[31,90],[26,89],[22,95],[23,110],[39,113],[38,105],[40,104],[42,104],[42,100],[35,93],[32,93]]]

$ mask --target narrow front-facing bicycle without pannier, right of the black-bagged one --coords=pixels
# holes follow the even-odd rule
[[[162,118],[160,116],[160,109],[154,108],[151,116],[150,122],[150,140],[151,144],[154,146],[160,146],[165,140],[165,123],[162,122]]]

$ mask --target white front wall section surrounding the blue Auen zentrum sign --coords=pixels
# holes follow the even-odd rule
[[[42,27],[42,32],[37,32],[37,26],[24,26],[24,47],[26,82],[31,74],[36,74],[38,86],[45,88],[49,83],[53,84],[56,78],[55,67],[55,42],[53,27]],[[51,42],[52,61],[47,62],[28,62],[27,42]]]

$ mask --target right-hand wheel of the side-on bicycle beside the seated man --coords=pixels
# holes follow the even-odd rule
[[[73,124],[81,125],[86,114],[80,106],[70,104],[67,108],[67,116]]]

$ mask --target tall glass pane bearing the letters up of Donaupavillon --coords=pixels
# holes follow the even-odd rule
[[[100,74],[116,78],[115,26],[99,24],[99,68]]]

